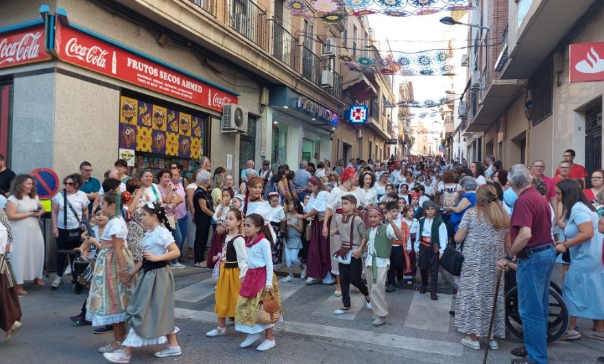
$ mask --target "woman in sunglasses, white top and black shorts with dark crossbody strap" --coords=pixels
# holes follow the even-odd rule
[[[52,288],[58,289],[62,284],[65,254],[60,250],[71,250],[80,246],[80,221],[88,220],[88,197],[79,190],[82,176],[68,175],[63,180],[64,189],[52,199],[51,226],[53,236],[57,241],[57,276],[52,282]],[[65,271],[71,274],[71,267]]]

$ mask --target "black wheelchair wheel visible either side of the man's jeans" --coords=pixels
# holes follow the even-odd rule
[[[554,282],[549,287],[549,310],[547,322],[547,342],[556,341],[568,327],[568,309],[562,299],[562,289]],[[505,272],[505,326],[519,339],[522,339],[522,319],[518,312],[518,287],[516,271]]]

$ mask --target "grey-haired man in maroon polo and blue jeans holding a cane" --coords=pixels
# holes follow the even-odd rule
[[[549,284],[556,257],[551,210],[547,200],[531,186],[527,167],[512,166],[507,180],[518,195],[510,220],[512,243],[506,250],[508,257],[516,256],[518,311],[523,323],[524,347],[530,363],[547,363]],[[497,264],[500,269],[507,269],[509,262],[508,258],[502,258]]]

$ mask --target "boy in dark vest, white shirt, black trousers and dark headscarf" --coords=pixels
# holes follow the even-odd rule
[[[430,298],[438,300],[436,289],[438,287],[438,260],[447,245],[447,228],[444,222],[436,217],[436,204],[432,201],[424,202],[424,217],[420,219],[420,228],[415,240],[415,250],[418,255],[418,267],[422,276],[420,293],[426,293],[428,288],[428,272],[430,273]]]

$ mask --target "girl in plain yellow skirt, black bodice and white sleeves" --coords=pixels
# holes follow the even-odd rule
[[[247,248],[245,239],[241,235],[243,215],[237,209],[232,209],[224,215],[226,234],[223,238],[222,253],[213,256],[214,262],[220,265],[214,306],[214,312],[218,316],[218,326],[207,332],[207,337],[226,335],[226,318],[235,315],[241,281],[247,271]]]

